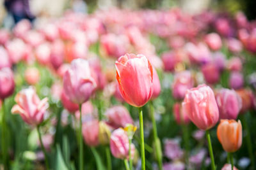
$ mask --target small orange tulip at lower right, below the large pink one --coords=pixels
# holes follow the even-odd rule
[[[222,119],[217,128],[218,139],[226,152],[236,152],[242,145],[242,125],[240,120]]]

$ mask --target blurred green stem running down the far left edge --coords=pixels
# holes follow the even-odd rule
[[[4,100],[2,104],[2,152],[3,152],[3,164],[4,169],[8,169],[8,152],[7,152],[7,146],[6,146],[6,115],[5,115],[5,107],[4,107]]]

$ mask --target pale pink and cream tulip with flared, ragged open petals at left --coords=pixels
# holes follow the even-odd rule
[[[20,117],[29,125],[41,124],[44,120],[44,114],[49,104],[45,97],[40,101],[36,95],[35,89],[29,87],[21,90],[15,96],[15,104],[12,108],[12,113],[19,113]]]

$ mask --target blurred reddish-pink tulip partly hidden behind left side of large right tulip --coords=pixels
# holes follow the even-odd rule
[[[190,122],[188,115],[181,110],[180,103],[173,105],[173,115],[177,124],[188,124]]]

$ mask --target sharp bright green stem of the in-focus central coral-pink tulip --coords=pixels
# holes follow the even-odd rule
[[[144,132],[143,132],[143,113],[142,108],[138,108],[140,118],[140,148],[141,148],[141,170],[145,170],[145,146],[144,146]]]

